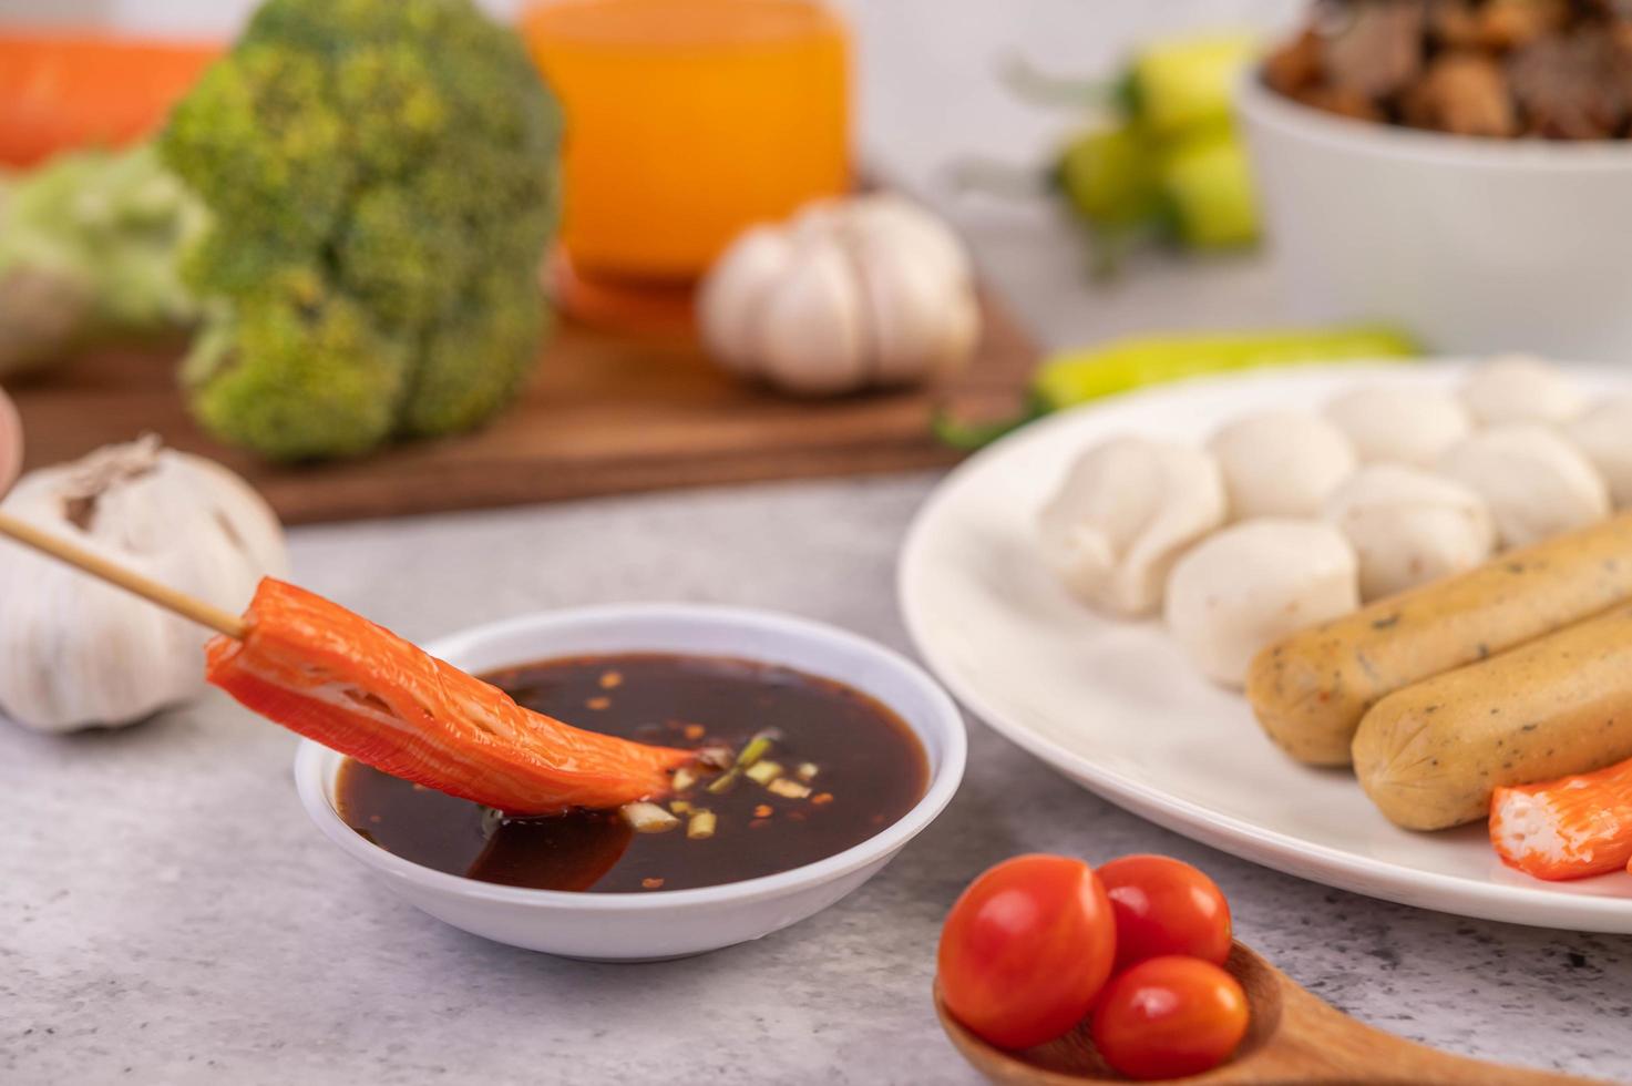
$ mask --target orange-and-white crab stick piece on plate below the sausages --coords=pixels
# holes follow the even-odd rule
[[[1632,758],[1598,772],[1497,789],[1490,843],[1503,862],[1537,879],[1632,870]]]

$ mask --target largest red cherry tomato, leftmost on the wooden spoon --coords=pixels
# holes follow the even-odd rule
[[[1080,1022],[1116,959],[1111,903],[1093,869],[1017,856],[969,883],[940,932],[940,991],[971,1030],[1004,1048]]]

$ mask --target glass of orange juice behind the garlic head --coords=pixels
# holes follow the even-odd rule
[[[744,227],[850,186],[849,33],[818,2],[547,0],[522,31],[566,111],[570,310],[684,297]]]

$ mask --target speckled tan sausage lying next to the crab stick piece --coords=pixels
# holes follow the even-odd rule
[[[1632,758],[1632,608],[1389,694],[1355,732],[1355,776],[1407,830],[1490,812],[1501,784]]]

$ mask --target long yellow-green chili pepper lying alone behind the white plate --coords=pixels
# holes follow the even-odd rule
[[[1115,340],[1059,351],[1031,377],[1023,410],[994,423],[934,420],[935,434],[956,449],[978,449],[1051,412],[1152,384],[1265,366],[1410,359],[1421,345],[1379,325],[1229,332]]]

